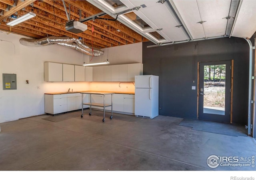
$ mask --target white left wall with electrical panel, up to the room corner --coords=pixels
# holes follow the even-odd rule
[[[0,31],[0,123],[44,114],[46,92],[89,89],[88,82],[44,82],[45,61],[82,65],[89,56],[59,45],[23,46],[20,38]],[[3,73],[17,74],[17,90],[3,90]]]

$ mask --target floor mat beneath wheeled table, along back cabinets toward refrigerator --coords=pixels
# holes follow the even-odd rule
[[[84,115],[89,114],[90,109],[84,110]],[[80,111],[80,116],[82,112]],[[100,110],[93,110],[92,109],[92,116],[102,116],[103,117],[103,111]],[[105,112],[105,118],[110,118],[111,112]],[[134,115],[127,115],[127,114],[119,114],[113,112],[113,119],[122,120],[122,121],[129,121],[129,122],[136,122],[140,120],[141,118],[137,118]]]

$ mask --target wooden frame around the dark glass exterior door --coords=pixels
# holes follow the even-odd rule
[[[217,61],[198,61],[197,63],[197,119],[199,119],[199,84],[200,84],[200,63],[220,63],[220,62],[230,62],[230,123],[232,123],[232,112],[233,112],[233,67],[234,67],[234,60],[217,60]]]

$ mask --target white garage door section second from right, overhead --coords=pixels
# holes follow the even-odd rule
[[[204,22],[203,28],[206,37],[222,36],[226,33],[230,0],[197,1],[199,13]]]

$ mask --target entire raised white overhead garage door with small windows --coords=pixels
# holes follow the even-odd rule
[[[94,0],[98,8],[145,36],[155,44],[166,42],[190,41],[201,38],[230,35],[238,0],[121,0],[126,7],[113,10],[104,0]],[[132,10],[135,20],[125,16],[124,10]],[[204,22],[205,21],[205,22]],[[146,23],[145,23],[146,22]],[[203,22],[202,24],[199,22]],[[149,25],[143,28],[139,23]],[[180,28],[175,26],[181,26]],[[162,29],[162,30],[158,30]],[[233,33],[235,37],[251,37],[256,31],[256,0],[242,0]],[[154,37],[152,37],[152,32]],[[158,32],[156,34],[155,32]],[[163,38],[159,38],[159,34]]]

